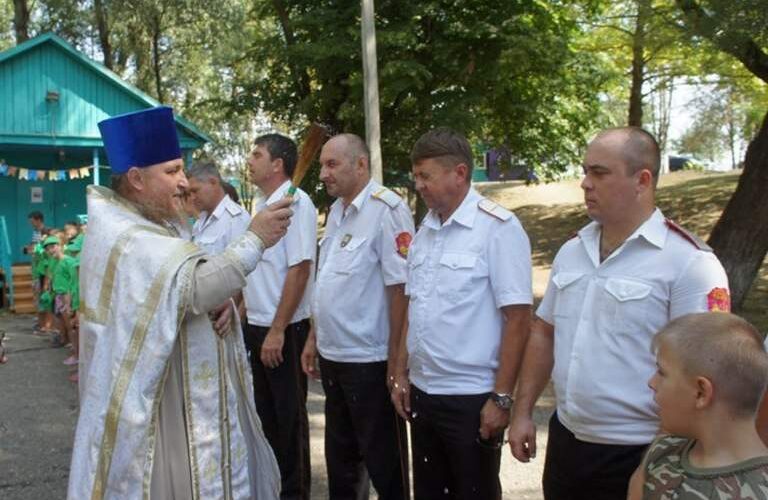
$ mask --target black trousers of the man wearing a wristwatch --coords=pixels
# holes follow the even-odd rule
[[[480,411],[488,396],[434,395],[411,385],[416,500],[501,498],[501,449],[478,443]]]

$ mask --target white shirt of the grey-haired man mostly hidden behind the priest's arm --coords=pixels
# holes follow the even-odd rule
[[[210,215],[200,212],[200,217],[192,227],[192,241],[206,253],[220,254],[248,229],[250,223],[250,214],[228,195],[224,195]]]

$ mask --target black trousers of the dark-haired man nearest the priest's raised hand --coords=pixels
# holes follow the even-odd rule
[[[308,500],[311,469],[307,376],[301,369],[301,351],[309,334],[309,320],[292,323],[285,329],[283,362],[276,368],[261,362],[261,346],[267,332],[267,327],[245,327],[256,411],[280,467],[280,498]]]

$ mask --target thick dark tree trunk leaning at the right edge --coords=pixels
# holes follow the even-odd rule
[[[717,221],[709,244],[723,263],[738,311],[768,252],[768,113],[750,141],[736,191]]]

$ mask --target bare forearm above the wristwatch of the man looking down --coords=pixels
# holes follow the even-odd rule
[[[496,371],[494,391],[511,394],[515,389],[517,375],[528,340],[531,325],[531,307],[528,305],[505,306],[499,368]]]

